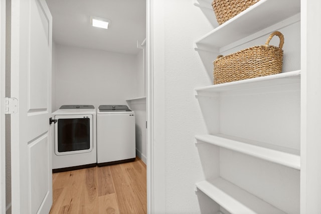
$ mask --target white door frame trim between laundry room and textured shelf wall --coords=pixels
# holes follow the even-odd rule
[[[146,0],[147,213],[166,212],[164,2]]]

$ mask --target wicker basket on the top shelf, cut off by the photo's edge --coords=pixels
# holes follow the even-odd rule
[[[260,0],[214,0],[212,7],[219,25],[232,19]]]

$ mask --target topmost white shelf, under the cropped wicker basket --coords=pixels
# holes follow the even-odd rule
[[[300,13],[300,0],[260,0],[204,35],[196,44],[221,48]],[[213,18],[215,15],[213,12]]]

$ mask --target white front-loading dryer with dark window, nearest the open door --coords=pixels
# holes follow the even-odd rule
[[[63,105],[53,112],[53,171],[96,165],[96,110],[92,105]]]

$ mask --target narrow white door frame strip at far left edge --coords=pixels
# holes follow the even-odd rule
[[[5,127],[5,84],[6,84],[6,1],[0,2],[0,213],[6,213],[6,127]]]

